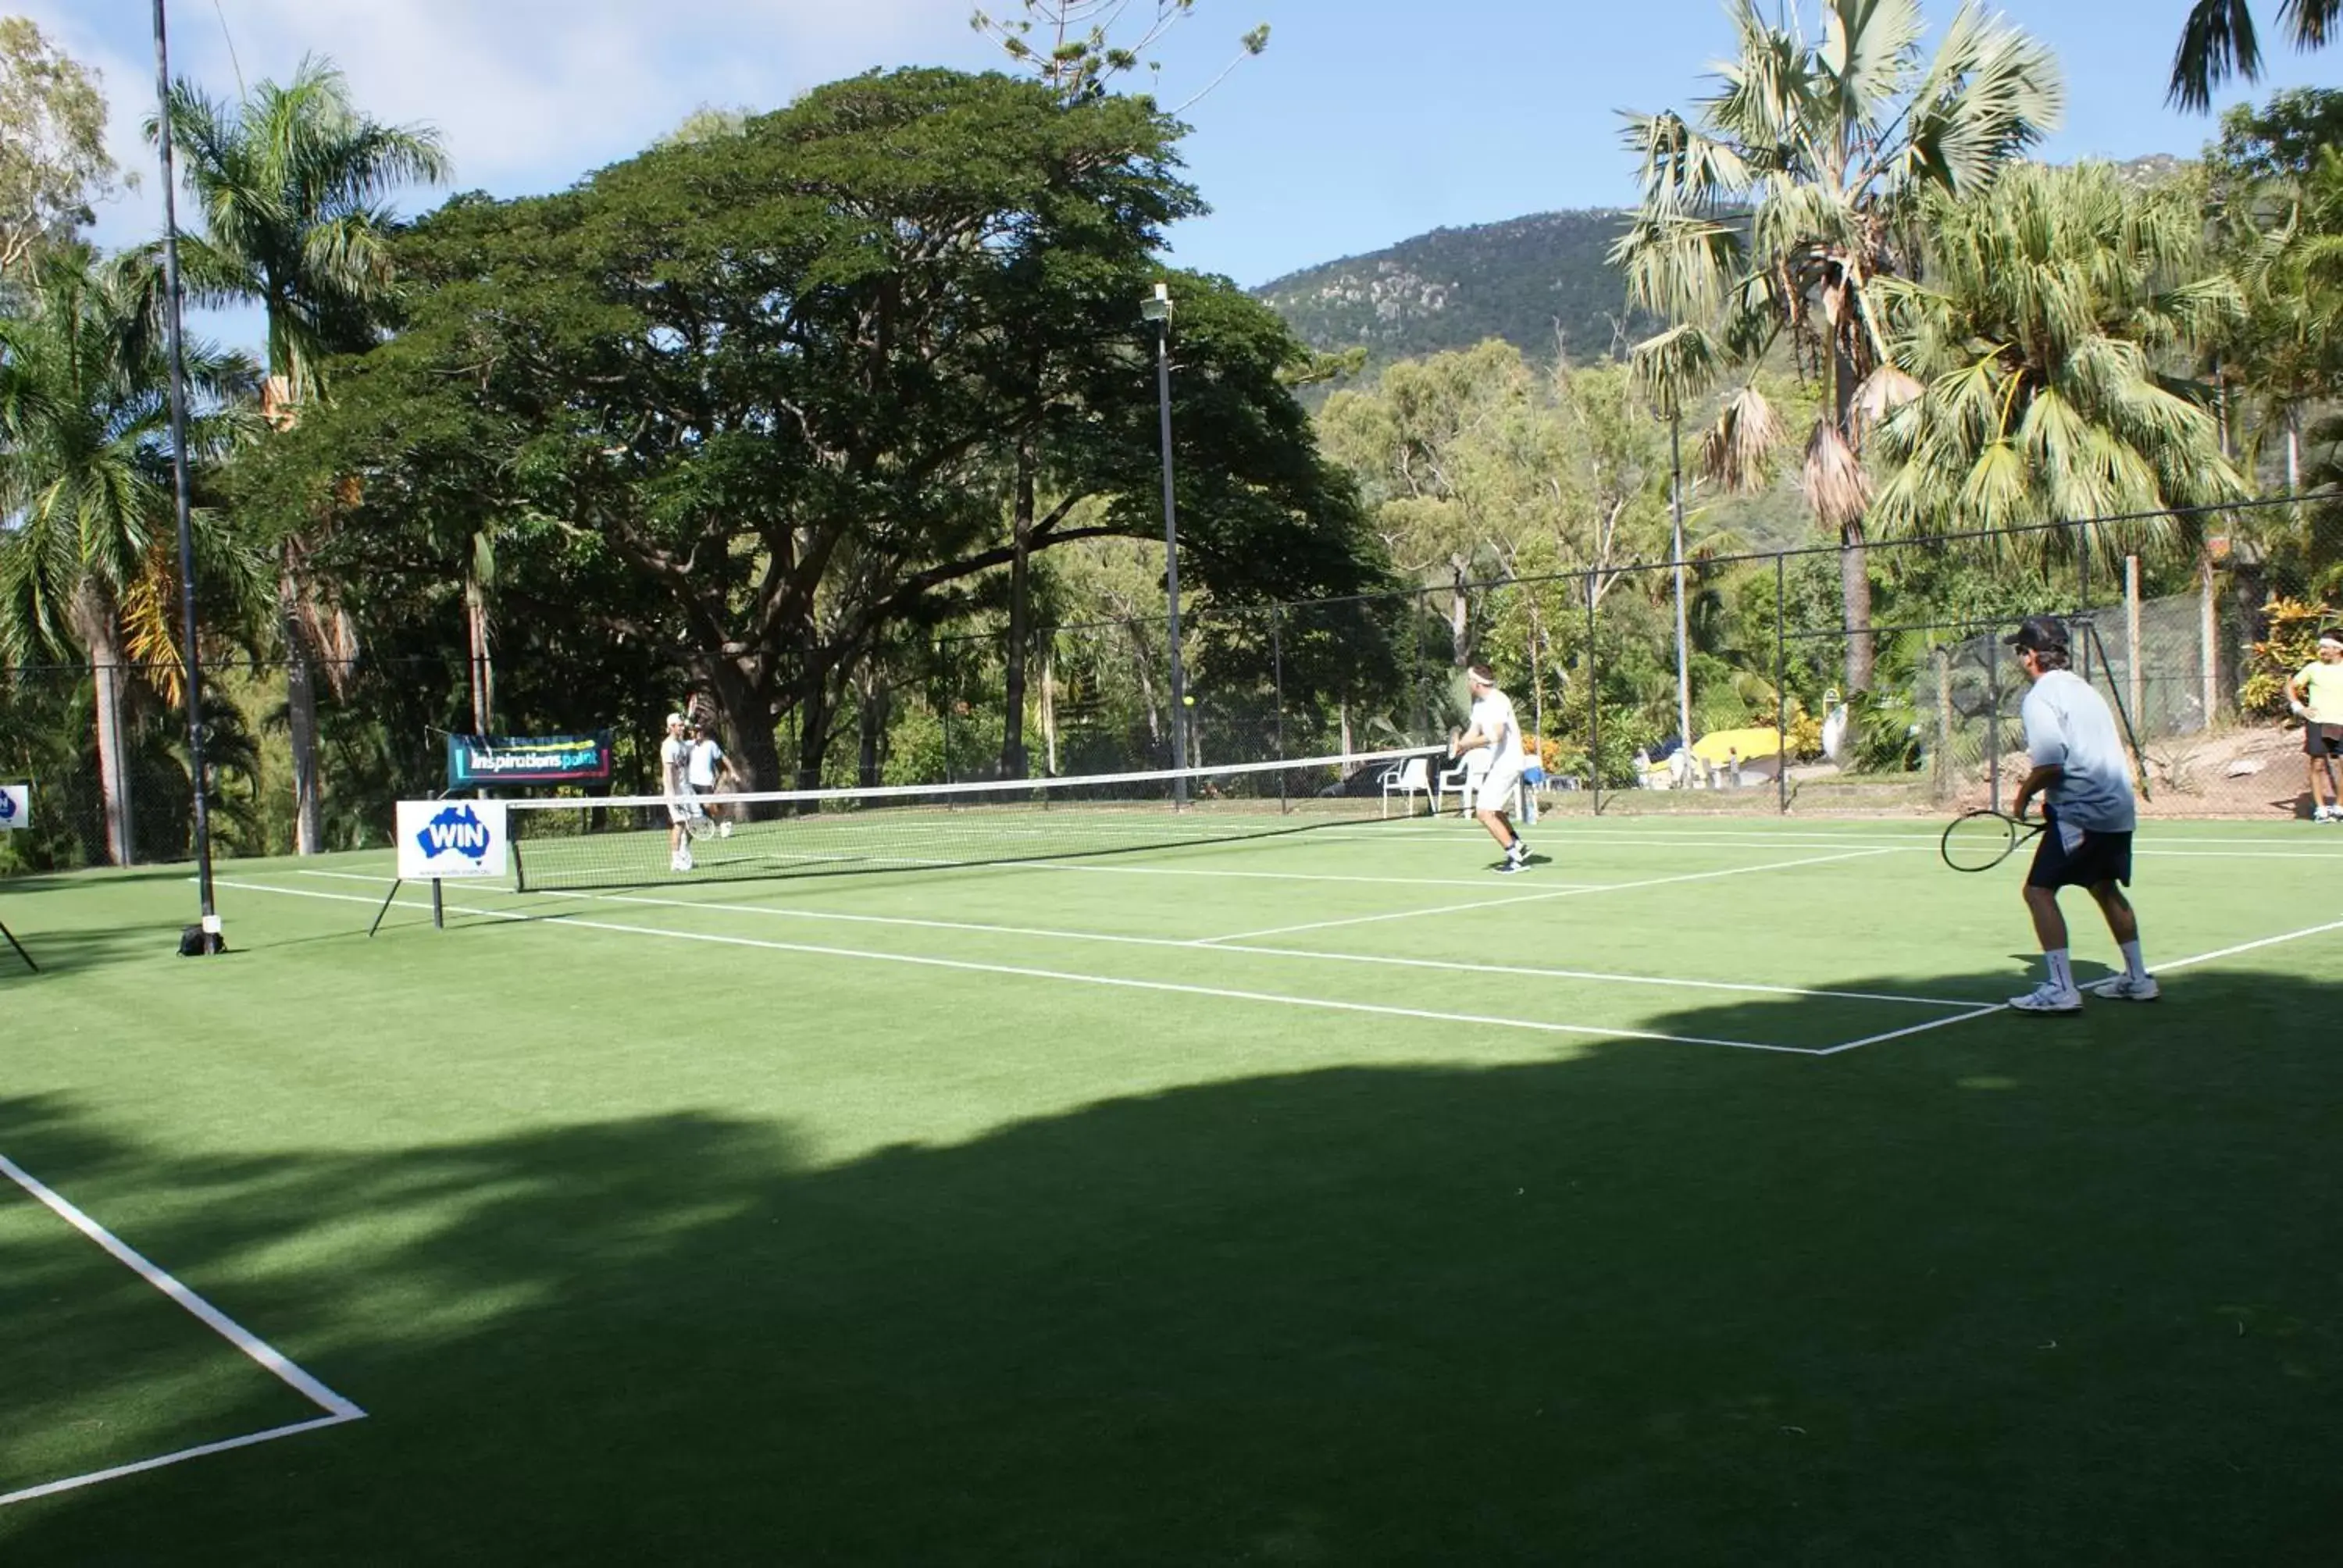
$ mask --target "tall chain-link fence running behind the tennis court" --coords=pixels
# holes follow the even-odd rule
[[[1546,811],[1940,811],[2006,799],[2022,771],[2027,680],[2001,638],[2043,612],[2071,619],[2076,670],[2137,738],[2149,813],[2306,811],[2303,729],[2284,687],[2317,633],[2343,623],[2334,497],[1884,541],[1860,555],[1453,570],[1371,598],[1202,602],[1181,623],[1181,694],[1160,595],[1022,640],[963,623],[890,645],[825,708],[776,696],[761,741],[783,759],[783,785],[1160,769],[1174,734],[1200,766],[1434,750],[1467,722],[1464,668],[1478,661],[1497,668],[1535,743]],[[612,788],[656,790],[661,715],[694,682],[581,659],[593,649],[499,666],[497,729],[609,729]],[[476,673],[462,656],[363,656],[307,675],[316,783],[305,823],[302,682],[284,663],[206,673],[220,853],[382,844],[396,799],[445,788],[448,731],[473,727]],[[740,724],[722,720],[726,750],[740,750]],[[33,825],[0,834],[0,870],[183,858],[185,741],[171,668],[0,668],[0,780],[35,785]]]

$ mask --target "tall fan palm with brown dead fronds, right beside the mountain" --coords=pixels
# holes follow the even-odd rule
[[[1846,682],[1872,677],[1865,429],[1914,389],[1888,366],[1877,281],[1910,267],[1931,192],[1989,190],[2064,113],[2050,52],[1963,5],[1933,56],[1917,0],[1821,0],[1821,26],[1727,0],[1739,52],[1717,91],[1628,115],[1642,206],[1612,248],[1628,300],[1668,321],[1635,345],[1664,408],[1727,375],[1703,466],[1760,485],[1783,438],[1757,370],[1788,347],[1828,387],[1806,434],[1804,495],[1839,539]]]

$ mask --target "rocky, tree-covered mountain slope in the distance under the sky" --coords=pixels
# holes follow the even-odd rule
[[[1364,347],[1368,363],[1504,338],[1549,359],[1603,359],[1640,335],[1619,274],[1603,260],[1626,213],[1530,213],[1432,230],[1263,284],[1254,298],[1314,349]]]

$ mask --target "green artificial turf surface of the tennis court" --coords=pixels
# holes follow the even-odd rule
[[[0,1563],[2334,1561],[2343,834],[2081,1020],[1926,823],[1532,844],[0,884],[0,1155],[366,1409]],[[0,1322],[0,1493],[319,1413],[14,1184]]]

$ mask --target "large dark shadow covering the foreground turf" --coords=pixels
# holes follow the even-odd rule
[[[715,1116],[206,1163],[0,1099],[30,1170],[178,1195],[129,1240],[373,1413],[5,1509],[0,1559],[2331,1561],[2334,1003],[2207,968],[843,1167]]]

